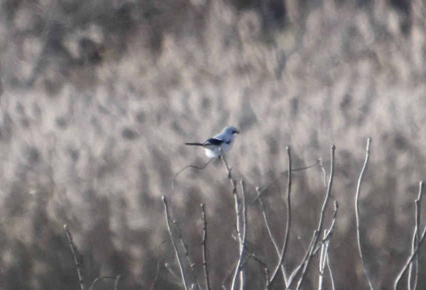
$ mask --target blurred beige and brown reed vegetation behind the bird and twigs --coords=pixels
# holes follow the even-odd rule
[[[238,248],[227,174],[213,162],[184,171],[174,189],[171,181],[183,166],[206,161],[202,149],[183,142],[235,125],[241,134],[228,162],[247,181],[249,200],[285,170],[287,144],[294,167],[323,157],[327,170],[336,144],[340,212],[330,263],[340,289],[367,287],[354,196],[372,137],[361,234],[375,286],[389,288],[409,252],[425,176],[424,5],[1,0],[0,287],[78,288],[68,223],[87,283],[121,274],[119,289],[150,288],[158,265],[154,288],[180,288],[160,199],[166,195],[200,274],[199,203],[206,204],[210,281],[218,289]],[[320,167],[294,173],[289,270],[316,226],[323,177]],[[279,240],[285,192],[283,177],[265,193]],[[274,265],[258,203],[249,206],[249,222],[249,247]],[[259,266],[247,267],[256,273]],[[257,271],[248,288],[262,287]],[[304,285],[316,287],[314,279]],[[111,281],[98,284],[108,287]]]

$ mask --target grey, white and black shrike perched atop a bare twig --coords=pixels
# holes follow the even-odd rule
[[[201,146],[205,149],[207,157],[215,158],[232,148],[232,143],[238,133],[240,132],[235,127],[225,127],[222,132],[205,140],[203,143],[185,143],[185,145]]]

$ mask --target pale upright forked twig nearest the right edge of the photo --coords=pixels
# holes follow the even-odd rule
[[[418,246],[418,239],[420,237],[420,233],[419,233],[420,210],[421,210],[420,202],[421,202],[423,187],[424,187],[423,180],[421,180],[419,184],[419,189],[418,189],[418,196],[417,196],[417,199],[415,200],[415,225],[414,225],[414,233],[412,236],[411,254],[414,252],[415,247]],[[410,263],[410,266],[408,269],[407,287],[409,290],[411,289],[415,290],[417,286],[417,278],[418,278],[418,254],[415,255],[415,260],[413,260]]]

